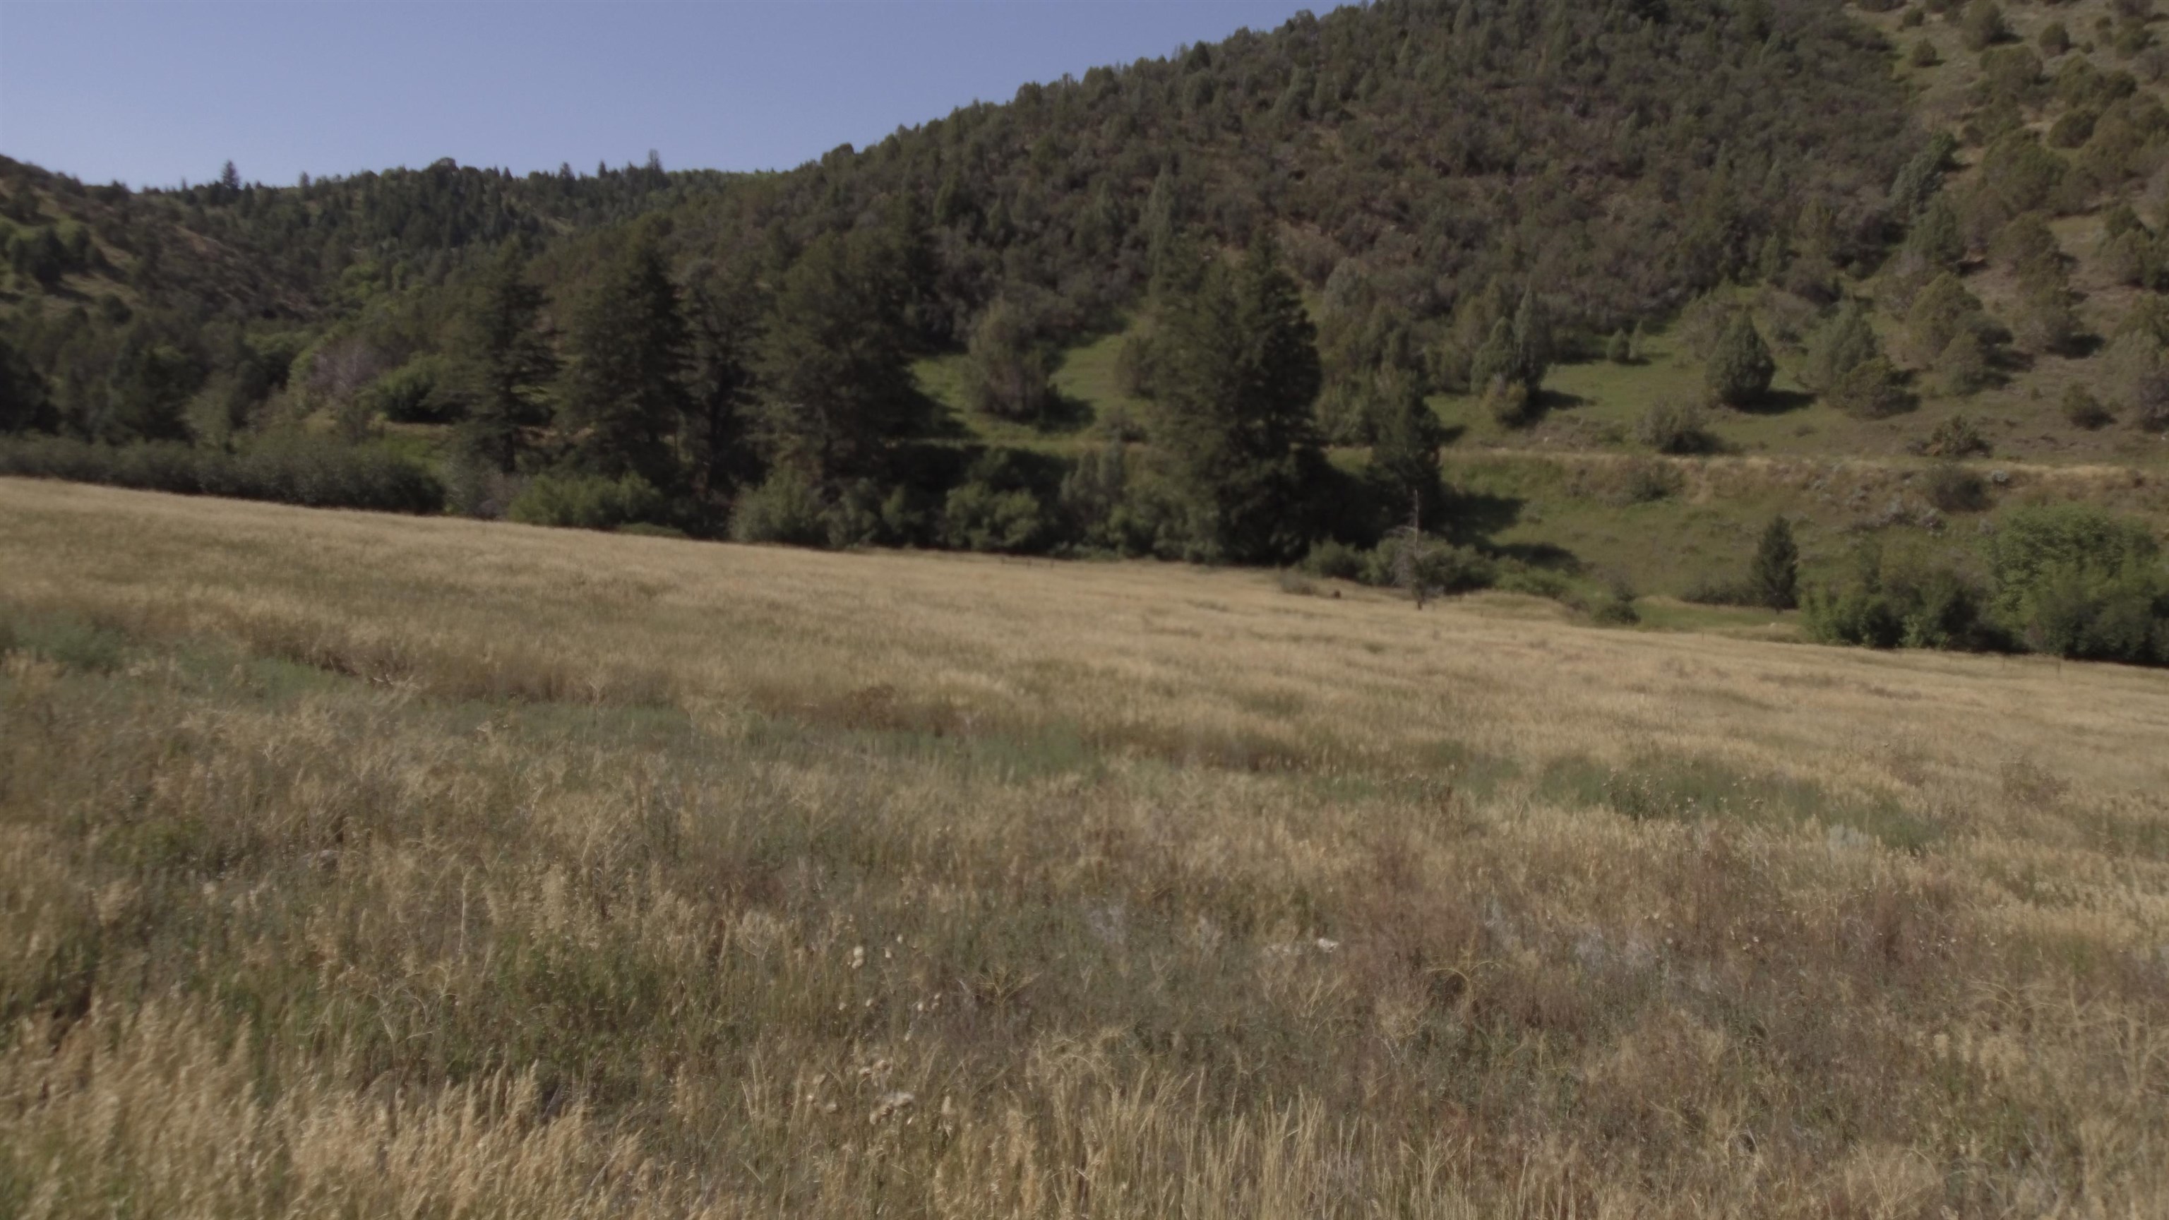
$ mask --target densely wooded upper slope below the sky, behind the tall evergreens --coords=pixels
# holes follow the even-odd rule
[[[1772,234],[1818,263],[1872,247],[1913,148],[1885,61],[1826,0],[1401,0],[1030,85],[783,176],[438,163],[126,191],[4,163],[7,297],[17,328],[74,306],[93,330],[152,315],[213,373],[236,356],[206,321],[334,326],[508,237],[662,211],[679,265],[777,269],[909,208],[931,345],[961,345],[1004,293],[1054,336],[1102,323],[1178,228],[1228,245],[1278,230],[1349,330],[1425,328],[1492,278],[1609,330],[1740,274]],[[568,258],[557,287],[586,271]],[[76,330],[17,339],[48,373],[76,341],[54,326]]]

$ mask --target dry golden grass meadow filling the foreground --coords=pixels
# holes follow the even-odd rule
[[[0,480],[0,1216],[2169,1211],[2169,677],[1343,593]]]

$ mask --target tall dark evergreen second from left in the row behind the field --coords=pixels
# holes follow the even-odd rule
[[[653,226],[603,269],[573,313],[560,397],[573,458],[605,478],[677,484],[675,441],[685,417],[688,336]]]

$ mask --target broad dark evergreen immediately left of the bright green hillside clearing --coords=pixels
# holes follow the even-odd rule
[[[753,363],[772,460],[822,482],[872,475],[920,428],[902,295],[868,234],[826,234],[798,256]]]

